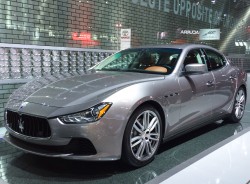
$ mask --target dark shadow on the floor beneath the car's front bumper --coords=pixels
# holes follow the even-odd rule
[[[21,154],[13,159],[10,164],[12,167],[26,170],[33,175],[48,178],[68,178],[70,180],[107,178],[114,174],[133,170],[133,168],[121,164],[121,161],[88,162],[41,157],[29,153]]]

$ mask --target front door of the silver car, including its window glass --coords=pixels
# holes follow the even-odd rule
[[[185,65],[191,63],[205,63],[205,56],[200,49],[189,51],[184,61]],[[181,87],[181,111],[178,126],[182,129],[199,126],[211,118],[214,96],[214,76],[212,72],[180,75],[179,85]]]

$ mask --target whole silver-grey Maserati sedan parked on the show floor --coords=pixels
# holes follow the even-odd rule
[[[126,49],[85,73],[21,86],[5,108],[4,139],[41,156],[142,167],[177,135],[217,120],[239,122],[246,81],[210,46]]]

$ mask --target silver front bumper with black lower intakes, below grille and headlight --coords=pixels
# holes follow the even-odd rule
[[[17,133],[6,124],[4,139],[25,152],[47,157],[78,160],[118,160],[121,157],[125,125],[120,120],[102,118],[89,124],[63,124],[49,119],[49,138],[29,137]]]

